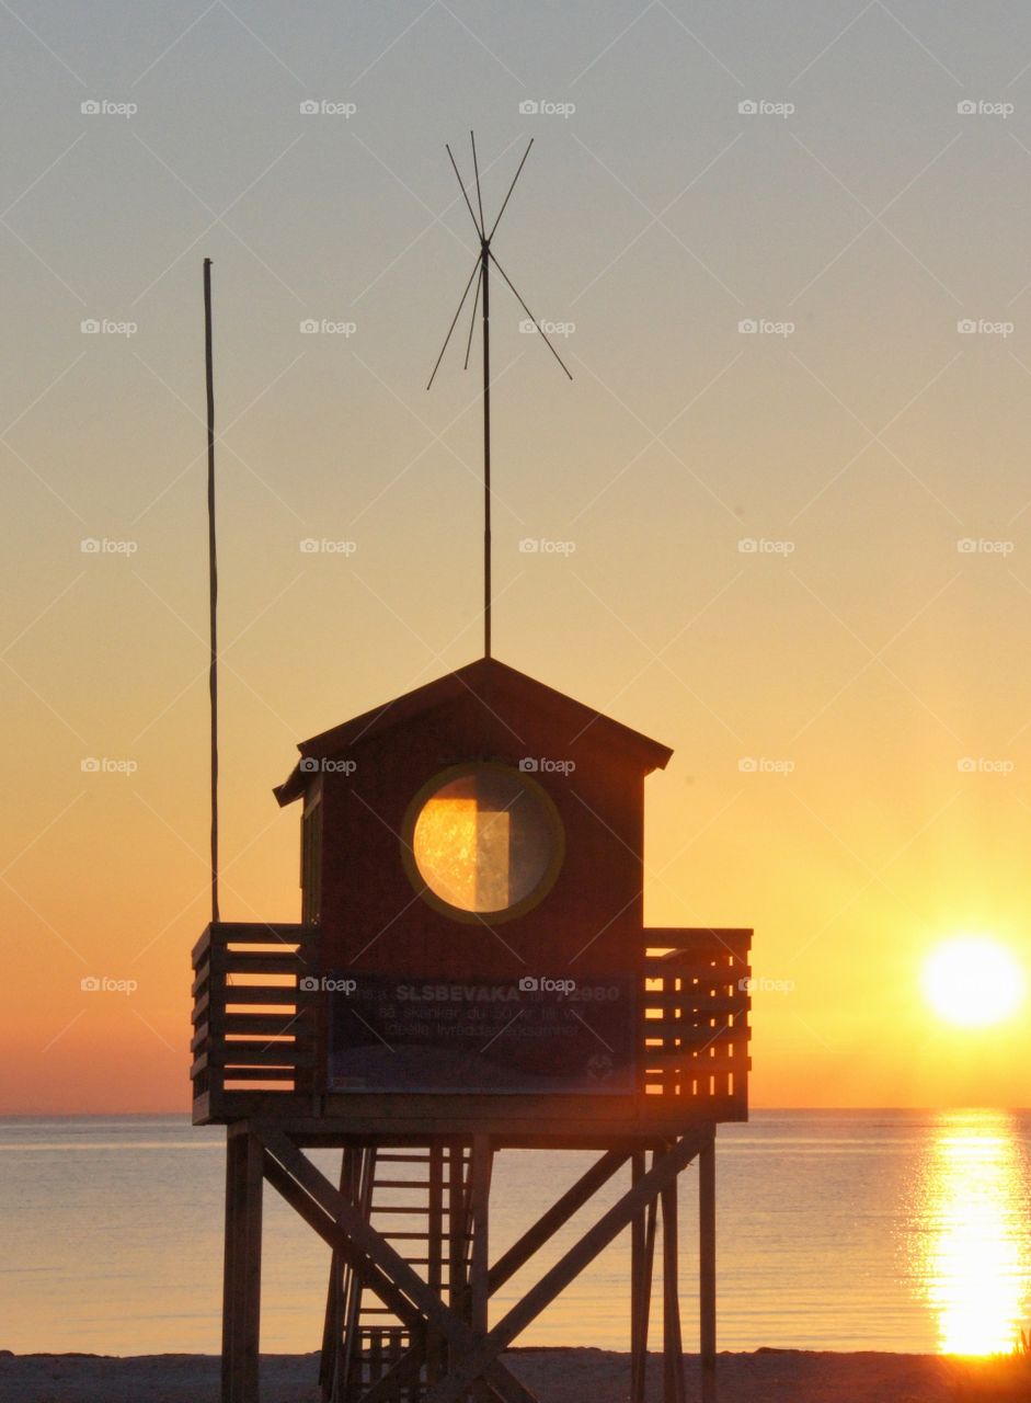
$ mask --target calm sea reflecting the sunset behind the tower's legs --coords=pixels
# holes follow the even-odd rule
[[[335,1157],[316,1159],[332,1177]],[[588,1162],[501,1155],[491,1254]],[[178,1117],[0,1120],[0,1348],[216,1351],[222,1173],[223,1132]],[[689,1170],[692,1344],[696,1188]],[[1031,1113],[756,1113],[720,1132],[717,1193],[724,1348],[986,1352],[1028,1324]],[[627,1264],[620,1240],[523,1343],[626,1348]],[[327,1251],[268,1190],[264,1348],[317,1347],[325,1271]]]

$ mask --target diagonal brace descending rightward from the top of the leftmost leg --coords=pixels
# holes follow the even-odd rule
[[[271,1159],[332,1221],[331,1223],[325,1223],[324,1229],[317,1228],[331,1246],[338,1247],[346,1257],[365,1258],[372,1266],[376,1278],[386,1278],[387,1288],[397,1288],[397,1292],[390,1291],[391,1298],[407,1298],[407,1302],[410,1302],[408,1316],[411,1317],[411,1308],[414,1306],[425,1320],[435,1324],[447,1338],[453,1354],[469,1358],[483,1350],[483,1344],[485,1343],[484,1336],[470,1330],[464,1320],[447,1309],[436,1292],[426,1285],[418,1273],[412,1271],[404,1257],[390,1246],[386,1237],[376,1232],[359,1209],[332,1187],[330,1180],[316,1169],[306,1155],[302,1155],[297,1146],[282,1131],[264,1125],[254,1125],[252,1131],[264,1143]],[[268,1177],[283,1193],[285,1186],[279,1180],[279,1176],[275,1174],[275,1170]],[[283,1197],[289,1195],[285,1194]],[[311,1226],[316,1226],[314,1222]],[[383,1282],[373,1282],[373,1271],[368,1266],[363,1270],[369,1277],[372,1288],[379,1295]],[[386,1298],[383,1299],[386,1301]],[[394,1299],[386,1301],[391,1309],[394,1308]],[[403,1301],[398,1299],[398,1305],[401,1303]],[[400,1317],[404,1320],[404,1313],[400,1313]],[[498,1352],[499,1350],[492,1350],[490,1358],[476,1371],[473,1378],[484,1379],[490,1383],[505,1403],[536,1403],[533,1393],[498,1361]]]

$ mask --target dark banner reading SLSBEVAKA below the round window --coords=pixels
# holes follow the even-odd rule
[[[331,1092],[635,1090],[630,976],[428,979],[346,971],[321,985]]]

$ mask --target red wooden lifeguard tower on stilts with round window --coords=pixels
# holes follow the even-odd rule
[[[216,919],[194,950],[194,1121],[229,1142],[223,1403],[258,1403],[265,1184],[330,1249],[327,1403],[533,1403],[504,1351],[627,1230],[642,1403],[659,1226],[663,1400],[682,1403],[678,1183],[696,1160],[715,1397],[714,1148],[748,1115],[750,932],[645,927],[644,780],[671,751],[487,641],[300,744],[275,794],[300,811],[302,919]],[[337,1181],[313,1148],[341,1150]],[[586,1163],[497,1256],[491,1169],[516,1148]],[[492,1312],[617,1176],[617,1201]]]

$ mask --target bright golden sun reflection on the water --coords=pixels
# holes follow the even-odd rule
[[[1028,1163],[1014,1120],[943,1114],[920,1197],[920,1275],[938,1351],[1011,1350],[1031,1308]]]

